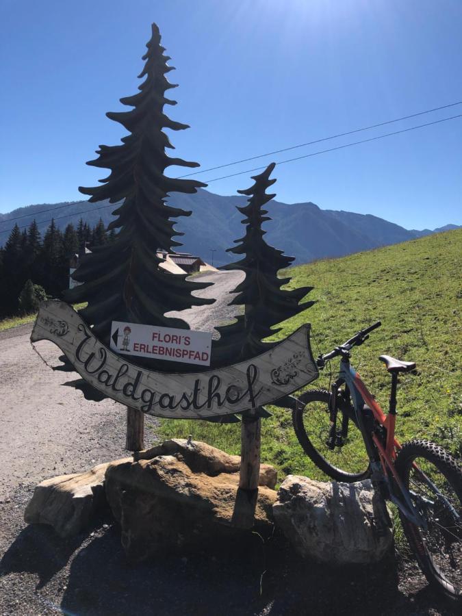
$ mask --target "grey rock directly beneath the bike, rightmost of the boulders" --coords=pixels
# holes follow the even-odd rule
[[[297,552],[321,563],[375,563],[392,545],[389,518],[369,480],[322,483],[289,475],[273,514]]]

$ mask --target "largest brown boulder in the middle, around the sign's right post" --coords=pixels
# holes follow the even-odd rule
[[[107,502],[130,559],[241,535],[246,531],[234,524],[236,506],[253,507],[255,528],[272,530],[272,467],[262,465],[252,502],[238,490],[240,458],[205,443],[173,439],[136,457],[110,464],[105,476]]]

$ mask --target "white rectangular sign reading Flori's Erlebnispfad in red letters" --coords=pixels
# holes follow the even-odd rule
[[[211,332],[113,321],[111,348],[125,355],[210,365]]]

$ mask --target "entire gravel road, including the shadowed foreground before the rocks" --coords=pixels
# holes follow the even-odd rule
[[[183,311],[192,329],[231,320],[229,290],[240,272],[201,274],[220,299]],[[125,408],[84,400],[65,386],[74,373],[51,370],[29,343],[31,325],[0,333],[0,615],[446,615],[450,608],[413,565],[394,556],[376,567],[333,570],[300,561],[279,539],[212,546],[127,563],[109,512],[75,539],[47,526],[25,526],[23,511],[44,478],[125,457]],[[53,344],[37,345],[57,365]],[[146,441],[155,440],[155,418]],[[397,570],[399,573],[397,573]]]

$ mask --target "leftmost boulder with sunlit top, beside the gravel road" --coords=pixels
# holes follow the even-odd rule
[[[61,537],[77,535],[105,504],[107,465],[99,464],[85,473],[60,475],[39,483],[25,509],[25,522],[49,524]]]

